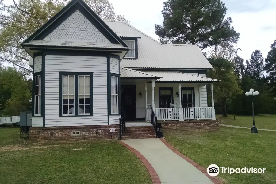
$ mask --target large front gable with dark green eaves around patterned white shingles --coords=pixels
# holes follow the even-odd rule
[[[80,42],[81,40],[86,43],[95,41],[94,43],[120,44],[128,48],[123,40],[83,0],[71,0],[22,44],[36,40],[42,42],[69,40]]]

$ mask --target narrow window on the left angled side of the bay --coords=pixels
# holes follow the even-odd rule
[[[35,76],[35,116],[41,116],[41,75]]]

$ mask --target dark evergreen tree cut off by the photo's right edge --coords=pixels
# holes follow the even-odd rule
[[[270,51],[267,53],[265,59],[265,70],[268,73],[268,79],[270,81],[271,86],[276,89],[276,40],[270,46]]]

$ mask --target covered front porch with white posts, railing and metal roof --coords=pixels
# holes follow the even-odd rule
[[[149,122],[150,107],[157,121],[215,120],[213,82],[216,81],[205,74],[121,69],[122,112],[126,121]],[[212,107],[207,104],[207,84],[211,86]]]

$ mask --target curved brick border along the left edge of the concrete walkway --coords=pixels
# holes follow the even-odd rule
[[[161,180],[160,180],[159,176],[157,175],[157,173],[154,170],[154,168],[152,167],[152,165],[148,162],[148,160],[139,151],[137,151],[136,149],[132,148],[128,144],[125,144],[122,141],[120,141],[120,143],[123,146],[125,146],[126,148],[128,148],[130,151],[132,151],[133,153],[135,153],[137,155],[137,157],[143,162],[143,164],[146,166],[149,174],[151,175],[151,180],[152,180],[153,184],[161,184]]]

